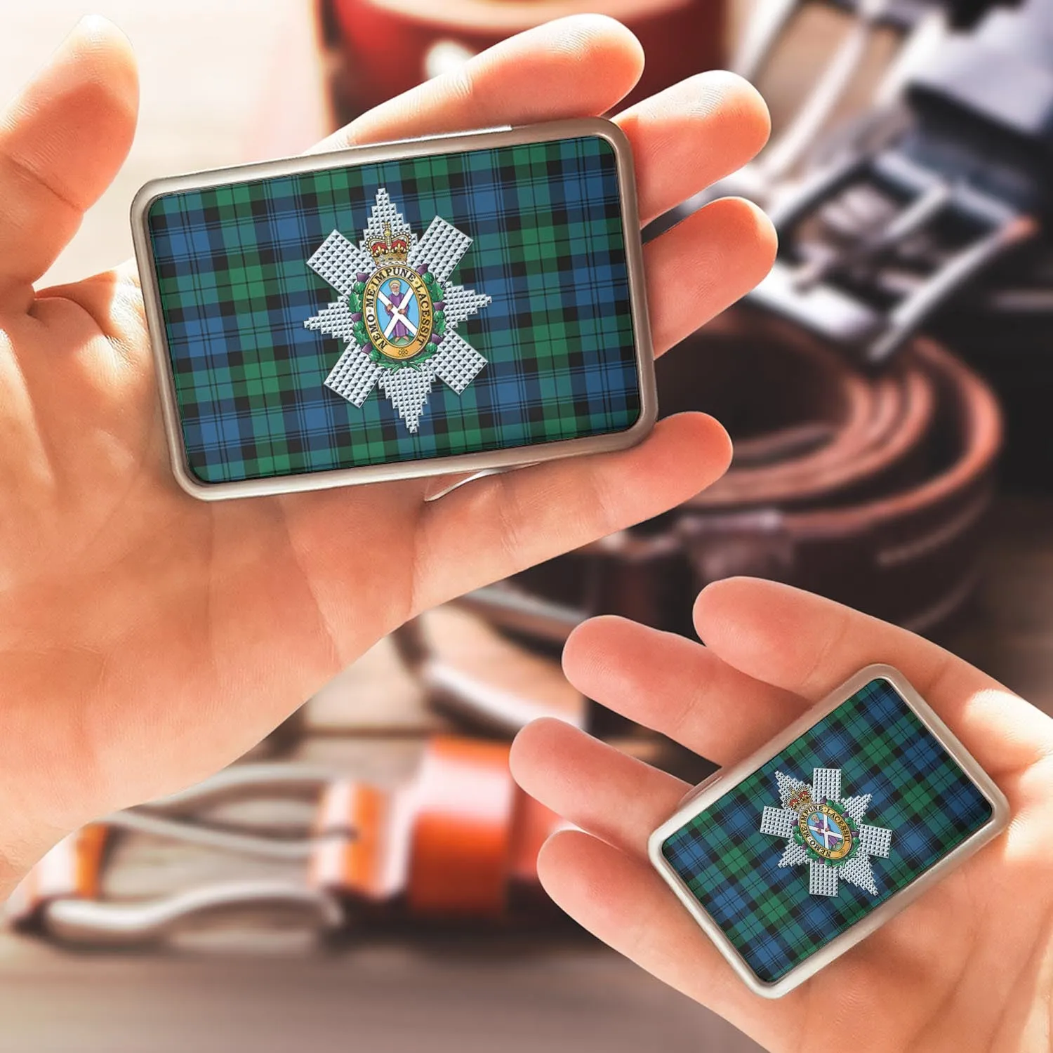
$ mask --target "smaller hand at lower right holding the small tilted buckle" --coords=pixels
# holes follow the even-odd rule
[[[585,695],[734,763],[871,662],[902,671],[1009,798],[998,839],[777,1001],[752,994],[647,861],[688,787],[556,720],[512,751],[522,787],[581,828],[556,834],[541,880],[569,914],[773,1053],[1048,1050],[1053,992],[1053,721],[906,630],[769,581],[710,585],[706,647],[621,618],[571,636]]]

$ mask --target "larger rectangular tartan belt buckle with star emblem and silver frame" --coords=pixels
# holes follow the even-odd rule
[[[503,468],[654,422],[632,160],[608,121],[159,180],[133,231],[196,496]]]

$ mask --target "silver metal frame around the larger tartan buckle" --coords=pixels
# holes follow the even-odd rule
[[[274,476],[266,479],[246,479],[235,482],[206,483],[196,478],[186,460],[182,429],[175,396],[168,354],[167,336],[161,314],[160,294],[155,267],[153,246],[147,229],[150,206],[165,194],[207,186],[223,186],[243,183],[267,177],[289,176],[302,172],[318,172],[327,168],[344,168],[378,161],[400,160],[416,157],[433,157],[441,154],[459,154],[474,150],[501,146],[519,146],[535,142],[552,142],[559,139],[597,136],[605,139],[613,147],[618,171],[621,196],[621,220],[624,226],[625,260],[629,271],[630,303],[633,312],[633,335],[636,342],[636,364],[640,390],[640,415],[636,422],[623,432],[610,435],[590,436],[581,439],[563,439],[558,442],[537,443],[516,446],[510,450],[488,451],[478,454],[462,454],[452,457],[421,458],[419,460],[396,461],[390,464],[372,464],[362,468],[336,469],[329,472],[310,472],[301,475]],[[593,454],[611,450],[623,450],[635,445],[654,426],[658,414],[655,394],[654,352],[651,344],[651,322],[648,317],[644,295],[643,255],[640,242],[640,223],[636,204],[636,176],[629,140],[621,130],[602,118],[552,121],[545,124],[523,127],[506,127],[468,132],[456,135],[436,136],[426,139],[408,139],[400,142],[380,143],[370,146],[354,146],[332,154],[314,154],[303,157],[264,161],[259,164],[238,165],[217,168],[211,172],[193,173],[155,179],[146,183],[132,202],[132,237],[135,243],[136,260],[142,283],[143,302],[154,362],[161,393],[161,408],[164,430],[168,439],[172,469],[180,486],[193,497],[204,500],[219,500],[230,497],[246,497],[255,494],[284,494],[304,490],[322,490],[354,483],[382,482],[391,479],[420,478],[448,473],[478,472],[482,470],[503,470],[538,461],[553,460],[576,454]]]

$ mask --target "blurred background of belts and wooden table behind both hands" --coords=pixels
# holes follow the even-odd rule
[[[555,817],[508,775],[541,714],[688,779],[703,758],[562,679],[617,612],[690,633],[759,574],[925,633],[1053,712],[1053,0],[111,0],[142,113],[46,279],[131,255],[147,179],[297,153],[503,36],[603,11],[640,93],[717,66],[774,134],[720,194],[780,233],[758,291],[659,365],[736,443],[686,505],[433,612],[208,783],[56,849],[0,932],[0,1050],[756,1049],[556,915]],[[85,14],[0,0],[0,96]],[[690,451],[686,452],[690,456]],[[299,701],[299,700],[292,700]]]

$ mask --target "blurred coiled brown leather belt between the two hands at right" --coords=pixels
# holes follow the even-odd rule
[[[781,580],[931,632],[968,597],[1000,415],[987,385],[916,339],[881,376],[786,321],[728,312],[659,362],[664,412],[714,413],[727,476],[673,512],[517,575],[588,614],[690,634],[698,590]]]

